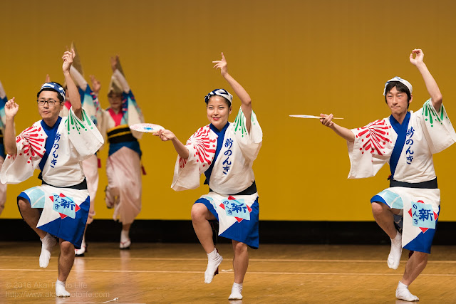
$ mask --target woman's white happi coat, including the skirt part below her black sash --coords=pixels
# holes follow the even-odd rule
[[[229,208],[227,201],[234,199],[231,194],[242,192],[250,187],[255,180],[252,166],[261,148],[263,132],[259,126],[257,115],[253,111],[251,120],[252,126],[250,132],[247,132],[246,117],[242,109],[239,109],[234,123],[229,123],[224,134],[222,148],[215,160],[209,179],[209,188],[213,191],[200,197],[200,199],[207,199],[212,204],[214,211],[217,212],[219,235],[221,236],[224,236],[224,232],[232,226],[232,229],[236,230],[234,224],[242,221],[242,219],[250,221],[248,212],[235,214],[235,212],[229,211],[227,209]],[[182,191],[199,187],[200,175],[210,167],[214,160],[217,140],[217,134],[211,130],[209,125],[199,128],[187,140],[185,146],[189,150],[189,157],[188,159],[177,157],[172,189]],[[252,205],[257,198],[258,193],[236,195],[235,197],[237,201],[242,202],[239,204],[245,206],[245,209],[248,209],[249,212],[252,212]],[[257,208],[254,208],[254,211],[257,212]],[[247,217],[242,218],[244,215]],[[252,216],[252,221],[254,221],[254,218],[258,219],[258,212],[255,216]],[[229,231],[227,231],[226,235],[226,237],[232,239]],[[237,239],[237,241],[244,242],[243,239]],[[257,247],[257,243],[253,247]]]

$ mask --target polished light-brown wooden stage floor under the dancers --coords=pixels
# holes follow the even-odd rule
[[[395,299],[408,251],[397,271],[389,246],[261,245],[249,249],[244,300],[229,301],[232,246],[217,246],[221,271],[204,283],[207,258],[196,243],[89,243],[56,298],[58,249],[39,268],[41,242],[0,243],[0,303],[406,303]],[[425,271],[410,285],[419,303],[456,303],[456,246],[434,246]],[[117,300],[114,300],[118,298]]]

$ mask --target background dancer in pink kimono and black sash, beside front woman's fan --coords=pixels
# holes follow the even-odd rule
[[[111,58],[113,76],[108,91],[110,108],[103,111],[103,135],[108,135],[109,151],[106,160],[106,206],[114,208],[113,219],[122,223],[120,249],[130,248],[130,226],[141,211],[141,132],[130,125],[144,122],[142,112],[130,90],[119,56]]]

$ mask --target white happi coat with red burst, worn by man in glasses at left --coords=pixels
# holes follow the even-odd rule
[[[76,117],[73,109],[70,109],[68,117],[62,118],[62,120],[58,125],[52,150],[49,152],[48,159],[41,172],[43,182],[48,185],[33,187],[28,189],[28,192],[26,191],[30,198],[33,196],[34,189],[43,193],[41,197],[30,201],[33,208],[43,208],[37,227],[55,222],[56,219],[65,219],[66,216],[75,219],[75,209],[66,209],[65,207],[63,210],[63,207],[54,204],[56,199],[57,201],[60,200],[55,194],[60,193],[62,197],[71,197],[72,203],[77,205],[76,211],[78,211],[79,205],[88,198],[88,191],[64,187],[83,182],[85,177],[81,162],[91,157],[103,145],[103,137],[84,110],[82,120]],[[16,137],[17,153],[8,154],[1,167],[1,182],[18,184],[31,177],[46,151],[46,138],[47,135],[41,126],[41,120],[21,132]],[[83,224],[79,227],[81,236],[76,237],[76,239],[72,239],[71,232],[61,231],[60,224],[53,226],[54,231],[43,230],[63,239],[66,239],[66,234],[68,234],[66,240],[75,243],[78,248],[81,244],[85,224],[86,219],[83,219]],[[63,227],[63,224],[61,226]],[[65,236],[61,236],[61,234]]]

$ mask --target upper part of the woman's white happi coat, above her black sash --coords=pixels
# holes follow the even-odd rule
[[[245,127],[245,116],[241,109],[230,122],[224,136],[222,150],[215,161],[209,180],[209,188],[220,194],[235,194],[249,187],[255,180],[252,165],[257,158],[263,132],[257,115],[252,111],[250,133]],[[209,125],[200,127],[185,145],[188,159],[177,157],[172,189],[182,191],[197,189],[199,176],[212,164],[217,149],[217,135]]]

